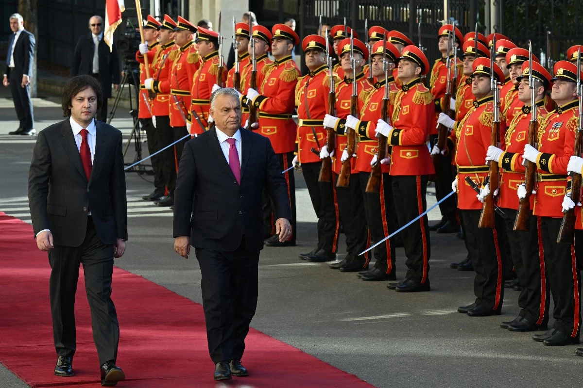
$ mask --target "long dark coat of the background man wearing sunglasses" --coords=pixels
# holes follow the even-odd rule
[[[93,52],[95,44],[93,34],[82,35],[77,41],[73,63],[71,64],[71,77],[79,74],[93,74]],[[107,43],[101,39],[97,48],[99,54],[99,82],[106,98],[111,97],[111,84],[120,84],[120,60],[117,56],[115,41],[113,51],[110,52]]]

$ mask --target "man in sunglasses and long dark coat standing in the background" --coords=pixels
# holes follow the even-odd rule
[[[103,19],[101,16],[92,16],[89,19],[89,34],[82,35],[77,41],[71,77],[78,74],[89,74],[99,80],[103,90],[103,106],[97,112],[96,119],[100,122],[107,120],[107,99],[111,97],[111,84],[117,91],[120,87],[120,60],[117,56],[115,41],[109,46],[103,41]]]

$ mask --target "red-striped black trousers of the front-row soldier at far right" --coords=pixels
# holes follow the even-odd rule
[[[554,302],[553,328],[575,337],[581,327],[581,275],[577,269],[575,247],[557,243],[561,222],[562,218],[541,217],[540,229],[547,279]]]

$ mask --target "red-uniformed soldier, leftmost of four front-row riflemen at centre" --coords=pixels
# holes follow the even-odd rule
[[[300,258],[312,262],[333,261],[338,250],[338,205],[335,187],[330,182],[319,182],[322,167],[319,152],[326,144],[327,133],[324,129],[324,116],[328,109],[330,77],[326,66],[326,45],[328,39],[319,35],[308,35],[302,41],[305,64],[310,72],[298,79],[296,85],[297,139],[294,165],[300,165],[305,186],[310,193],[314,212],[318,217],[318,244],[311,252],[301,254]],[[329,51],[329,47],[328,47]],[[332,73],[334,84],[340,79]]]

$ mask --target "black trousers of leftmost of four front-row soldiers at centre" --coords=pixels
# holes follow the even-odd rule
[[[308,188],[312,207],[318,217],[318,250],[329,253],[338,251],[338,204],[335,186],[331,182],[319,182],[322,162],[301,163],[305,186]],[[283,170],[282,170],[283,171]]]

